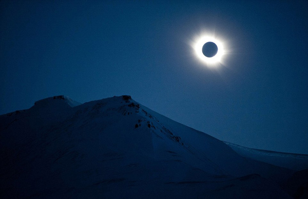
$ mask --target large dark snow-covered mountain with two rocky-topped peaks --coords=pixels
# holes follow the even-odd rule
[[[0,115],[1,198],[307,194],[307,181],[298,181],[308,176],[305,170],[295,173],[237,148],[128,95],[84,104],[49,97],[30,109]],[[301,167],[307,162],[303,156]]]

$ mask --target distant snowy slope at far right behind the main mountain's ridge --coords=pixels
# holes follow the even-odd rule
[[[261,161],[296,171],[308,169],[308,155],[305,154],[251,149],[228,142],[224,143],[231,147],[233,150],[235,150],[241,156],[250,158],[252,160]]]

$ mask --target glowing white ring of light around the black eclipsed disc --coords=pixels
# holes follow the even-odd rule
[[[217,54],[213,57],[206,57],[202,53],[202,47],[207,42],[214,42],[218,47]],[[194,49],[195,55],[202,63],[206,64],[207,66],[216,66],[218,64],[222,64],[222,57],[225,54],[225,50],[220,39],[214,36],[202,35],[196,38],[195,42],[193,42],[191,46]]]

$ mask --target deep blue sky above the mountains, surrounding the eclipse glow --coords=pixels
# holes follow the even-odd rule
[[[208,68],[191,41],[223,38]],[[1,1],[0,114],[131,95],[220,140],[308,154],[307,1]]]

